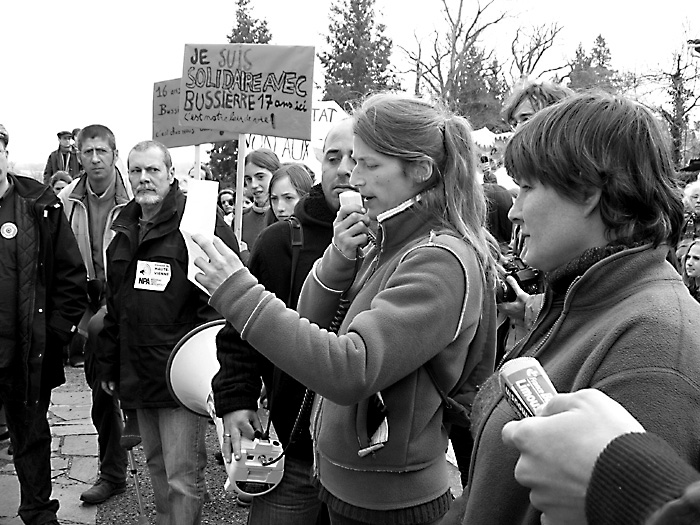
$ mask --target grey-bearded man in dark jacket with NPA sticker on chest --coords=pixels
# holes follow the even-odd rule
[[[168,149],[140,142],[129,153],[128,170],[134,199],[112,224],[98,379],[105,391],[119,395],[123,409],[136,410],[156,521],[194,525],[206,493],[207,422],[170,394],[166,367],[188,332],[221,316],[187,277],[189,256],[179,229],[187,197],[178,188]],[[214,233],[238,250],[220,214]]]

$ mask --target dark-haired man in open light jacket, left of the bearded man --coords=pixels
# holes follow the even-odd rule
[[[114,236],[112,222],[133,198],[133,192],[127,174],[117,167],[119,152],[109,128],[100,124],[83,128],[76,146],[85,176],[61,190],[59,198],[88,272],[90,305],[78,326],[70,359],[74,364],[75,354],[85,348],[85,378],[92,388],[91,415],[97,429],[100,471],[95,485],[80,499],[96,504],[124,492],[126,487],[127,454],[120,444],[123,423],[116,399],[96,381],[94,345],[106,311],[103,291],[107,246]]]

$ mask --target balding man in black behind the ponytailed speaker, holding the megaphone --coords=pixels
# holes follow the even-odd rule
[[[355,165],[352,143],[351,120],[342,121],[331,129],[324,143],[321,184],[314,186],[294,209],[301,225],[303,246],[298,252],[293,282],[289,222],[268,226],[255,242],[250,271],[290,308],[296,308],[306,275],[333,237],[333,220],[340,207],[338,194],[350,189],[350,173]],[[252,436],[253,429],[261,430],[256,408],[262,376],[268,393],[270,417],[278,437],[287,447],[302,405],[304,386],[242,341],[230,323],[219,332],[217,349],[221,369],[212,381],[217,414],[223,417],[236,412],[238,429],[246,437]],[[236,444],[239,439],[235,436]],[[226,445],[224,441],[224,447]],[[230,455],[229,448],[228,458]],[[288,448],[285,461],[285,475],[275,490],[253,499],[249,525],[323,523],[324,511],[318,499],[318,489],[311,483],[312,444],[308,412],[297,423],[294,444]]]

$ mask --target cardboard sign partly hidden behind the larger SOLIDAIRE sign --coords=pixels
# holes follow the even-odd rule
[[[153,84],[153,140],[168,148],[236,140],[236,133],[180,125],[180,79]]]

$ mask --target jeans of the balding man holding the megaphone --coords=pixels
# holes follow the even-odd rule
[[[253,498],[248,525],[329,523],[326,506],[311,484],[311,461],[285,457],[284,476],[272,491]]]

